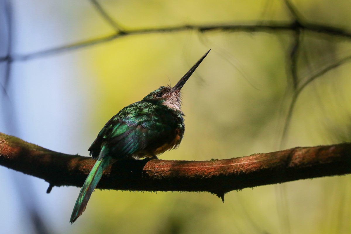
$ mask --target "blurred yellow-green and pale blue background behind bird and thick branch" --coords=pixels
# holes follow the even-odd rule
[[[351,2],[290,4],[295,14],[278,0],[0,0],[0,132],[88,156],[107,120],[174,85],[211,48],[182,89],[184,139],[160,158],[351,141]],[[296,17],[345,35],[259,29]],[[251,29],[151,30],[223,24]],[[120,29],[149,33],[104,40]],[[0,233],[351,233],[350,175],[232,191],[224,203],[210,193],[96,190],[73,225],[80,188],[46,194],[47,182],[5,167],[0,178]]]

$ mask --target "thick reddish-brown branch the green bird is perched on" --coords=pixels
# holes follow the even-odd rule
[[[108,167],[97,188],[210,192],[351,173],[351,143],[296,147],[211,161],[120,160]],[[62,154],[0,133],[0,165],[53,186],[80,187],[95,160]]]

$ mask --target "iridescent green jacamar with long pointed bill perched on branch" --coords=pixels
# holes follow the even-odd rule
[[[143,100],[121,109],[105,124],[88,149],[90,156],[97,161],[80,190],[71,223],[84,212],[102,173],[113,162],[122,158],[157,159],[156,155],[179,146],[184,134],[180,89],[210,50],[173,88],[159,87]]]

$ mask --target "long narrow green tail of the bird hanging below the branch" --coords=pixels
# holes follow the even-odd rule
[[[101,179],[102,172],[104,172],[108,165],[110,165],[112,158],[110,156],[101,157],[103,151],[104,149],[101,149],[98,160],[95,162],[87,179],[84,182],[84,185],[80,189],[79,196],[72,211],[71,219],[69,220],[71,223],[77,220],[77,218],[84,212],[85,207],[87,206],[87,203],[90,199],[90,195]]]

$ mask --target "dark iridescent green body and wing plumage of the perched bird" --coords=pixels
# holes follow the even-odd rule
[[[166,91],[168,87],[158,90]],[[155,114],[157,113],[157,114]],[[109,149],[114,159],[153,156],[154,150],[171,143],[177,134],[184,134],[183,112],[143,99],[123,108],[101,129],[89,148],[90,155],[98,158],[101,145]],[[179,142],[176,145],[179,145]]]

